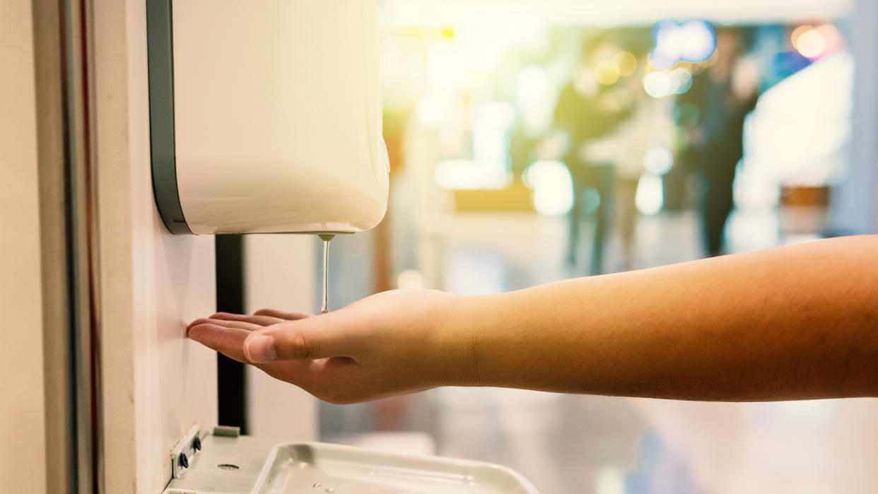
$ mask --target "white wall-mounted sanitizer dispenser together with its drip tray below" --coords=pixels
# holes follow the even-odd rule
[[[146,0],[155,202],[172,233],[316,233],[387,207],[374,0]],[[324,299],[325,302],[325,299]],[[193,425],[165,494],[534,494],[512,470]]]

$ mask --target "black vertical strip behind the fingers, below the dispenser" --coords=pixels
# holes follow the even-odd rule
[[[244,238],[216,236],[217,311],[244,313]],[[219,424],[247,433],[247,387],[244,364],[217,354]]]

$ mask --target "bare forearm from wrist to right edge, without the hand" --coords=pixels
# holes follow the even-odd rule
[[[878,239],[460,297],[461,383],[623,396],[878,396]]]

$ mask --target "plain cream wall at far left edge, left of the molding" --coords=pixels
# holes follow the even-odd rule
[[[0,490],[46,490],[30,0],[0,2]]]

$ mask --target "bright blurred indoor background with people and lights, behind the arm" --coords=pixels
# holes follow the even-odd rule
[[[391,199],[333,242],[335,307],[874,231],[871,0],[378,4]],[[870,492],[875,412],[447,388],[320,404],[320,439],[548,493]]]

